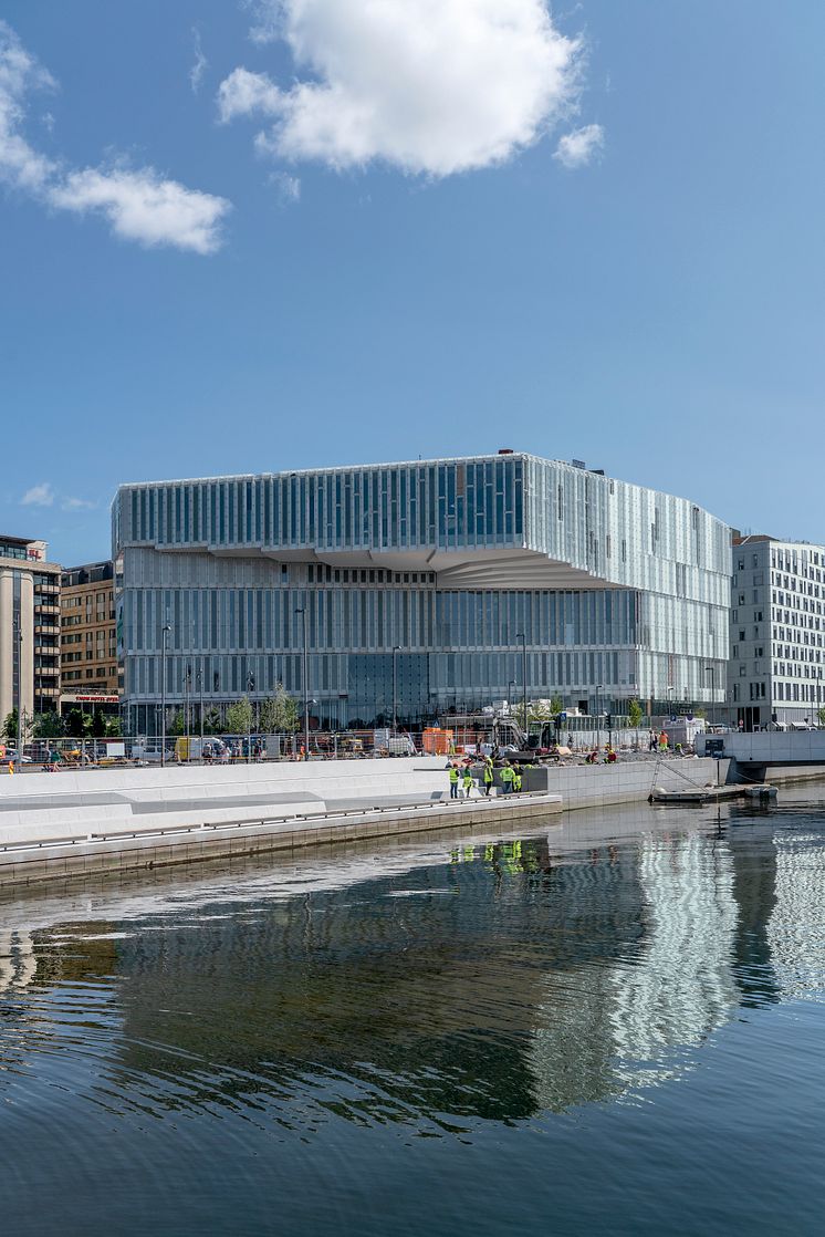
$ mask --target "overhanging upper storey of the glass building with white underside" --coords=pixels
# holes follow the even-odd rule
[[[730,604],[729,527],[689,499],[523,453],[122,485],[131,547],[435,573],[439,588],[615,586]]]

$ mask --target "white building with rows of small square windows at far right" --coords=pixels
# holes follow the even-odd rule
[[[731,596],[731,719],[743,730],[818,724],[825,705],[825,548],[735,537]]]

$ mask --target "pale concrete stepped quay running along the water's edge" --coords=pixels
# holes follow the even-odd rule
[[[445,829],[529,828],[564,809],[705,785],[727,762],[541,767],[524,794],[450,800],[444,757],[135,767],[0,778],[0,884]]]

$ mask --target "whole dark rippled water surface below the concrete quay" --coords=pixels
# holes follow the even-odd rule
[[[6,897],[2,1232],[819,1235],[816,793]]]

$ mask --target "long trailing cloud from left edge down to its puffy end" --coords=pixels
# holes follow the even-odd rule
[[[30,93],[53,87],[46,69],[0,21],[0,182],[57,209],[95,210],[119,236],[143,245],[214,252],[220,245],[220,223],[231,209],[225,198],[188,189],[151,167],[67,169],[26,140],[22,126]]]

